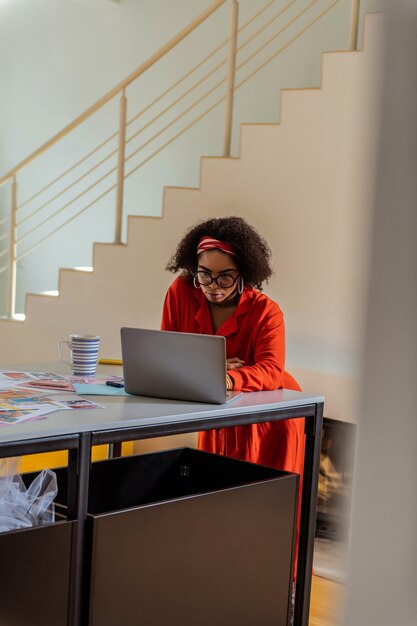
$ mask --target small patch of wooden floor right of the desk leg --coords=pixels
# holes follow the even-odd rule
[[[309,626],[341,626],[344,587],[313,576]]]

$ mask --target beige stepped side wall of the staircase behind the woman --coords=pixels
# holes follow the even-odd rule
[[[239,158],[203,158],[198,189],[165,188],[161,218],[129,217],[126,244],[95,244],[92,272],[62,269],[57,297],[29,294],[24,322],[0,321],[2,362],[54,361],[72,332],[120,357],[121,326],[158,328],[184,230],[239,214],[274,253],[266,292],[286,314],[288,369],[326,394],[332,417],[354,420],[381,22],[367,17],[363,51],[323,55],[321,88],[282,93],[280,124],[244,124]]]

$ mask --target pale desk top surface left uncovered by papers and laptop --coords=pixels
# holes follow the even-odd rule
[[[56,363],[36,363],[13,365],[1,369],[16,371],[52,371],[68,373],[62,365]],[[118,366],[102,365],[97,375],[122,374]],[[65,394],[68,397],[68,394]],[[57,399],[59,395],[56,394]],[[143,396],[86,396],[89,400],[101,404],[103,409],[73,409],[56,411],[44,419],[21,422],[16,425],[0,427],[0,444],[33,440],[40,437],[55,437],[82,432],[96,432],[114,429],[140,428],[149,425],[167,425],[180,422],[198,422],[207,418],[221,421],[225,417],[253,415],[276,411],[277,409],[298,408],[324,402],[321,395],[312,395],[299,391],[277,389],[276,391],[257,391],[243,393],[227,404],[199,404],[148,398]]]

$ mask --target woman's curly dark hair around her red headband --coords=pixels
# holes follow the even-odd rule
[[[214,237],[236,248],[236,262],[248,287],[262,290],[272,269],[271,250],[265,239],[242,217],[213,217],[190,228],[170,258],[166,269],[191,276],[197,269],[197,246],[202,237]]]

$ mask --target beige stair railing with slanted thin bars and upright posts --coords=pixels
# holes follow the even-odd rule
[[[152,67],[157,61],[162,59],[170,50],[172,50],[175,46],[177,46],[181,41],[183,41],[190,33],[192,33],[198,26],[200,26],[203,22],[207,20],[214,12],[216,12],[223,4],[226,2],[230,4],[230,32],[229,37],[225,39],[221,44],[219,44],[214,50],[212,50],[205,58],[199,61],[193,68],[191,68],[188,72],[186,72],[179,80],[174,82],[170,87],[165,89],[165,91],[160,94],[157,98],[155,98],[150,104],[148,104],[142,111],[137,113],[130,120],[127,120],[127,96],[126,89],[129,85],[131,85],[134,81],[136,81],[146,70]],[[341,0],[333,0],[330,4],[327,4],[326,7],[319,12],[317,15],[313,16],[306,26],[302,27],[298,30],[292,37],[290,37],[283,45],[281,45],[278,50],[275,50],[272,55],[270,55],[266,60],[262,61],[254,70],[252,70],[245,77],[242,77],[239,82],[236,82],[237,73],[241,72],[241,70],[247,66],[247,64],[255,59],[263,50],[265,50],[271,43],[275,42],[281,35],[283,35],[290,27],[297,23],[302,17],[306,16],[311,10],[313,10],[314,6],[319,2],[319,0],[311,0],[302,10],[296,13],[292,18],[290,18],[284,26],[278,29],[273,35],[271,35],[266,41],[264,41],[258,48],[256,48],[253,52],[251,52],[244,60],[240,63],[237,63],[237,54],[241,53],[248,45],[252,42],[256,41],[262,33],[271,25],[281,19],[287,11],[297,2],[297,0],[289,0],[284,7],[281,7],[277,13],[275,13],[272,17],[268,19],[266,23],[264,23],[260,28],[258,28],[251,36],[249,36],[245,41],[243,41],[238,46],[238,35],[241,35],[242,32],[252,24],[256,19],[258,19],[267,9],[269,9],[276,0],[269,0],[266,2],[257,13],[255,13],[249,20],[247,20],[243,25],[238,27],[238,1],[237,0],[215,0],[205,11],[203,11],[196,19],[194,19],[190,24],[188,24],[185,28],[183,28],[174,38],[172,38],[167,44],[165,44],[160,50],[158,50],[155,54],[153,54],[147,61],[145,61],[137,70],[132,72],[124,81],[119,83],[116,87],[110,90],[105,96],[100,98],[94,105],[89,107],[84,113],[82,113],[79,117],[73,120],[70,124],[68,124],[65,128],[63,128],[59,133],[54,135],[49,141],[43,144],[38,150],[29,155],[26,159],[24,159],[21,163],[19,163],[16,167],[14,167],[10,172],[8,172],[3,178],[0,179],[0,187],[8,182],[11,182],[11,211],[10,211],[10,224],[9,224],[9,234],[5,233],[0,237],[0,241],[4,240],[9,236],[9,246],[8,249],[5,249],[0,252],[0,258],[5,256],[8,253],[8,263],[6,263],[3,267],[0,267],[0,273],[8,270],[8,306],[7,312],[10,318],[13,318],[15,315],[15,301],[16,301],[16,277],[17,277],[17,262],[30,254],[34,249],[38,248],[42,243],[44,243],[47,239],[53,236],[56,232],[64,228],[67,224],[76,219],[79,215],[84,213],[91,206],[99,202],[104,196],[109,194],[112,191],[116,193],[116,221],[115,221],[115,243],[122,242],[122,224],[123,224],[123,195],[124,195],[124,185],[127,178],[129,178],[134,172],[138,171],[143,165],[148,163],[152,158],[154,158],[157,154],[159,154],[164,148],[170,145],[173,141],[178,139],[182,134],[184,134],[188,129],[198,123],[201,119],[206,117],[213,109],[219,106],[222,102],[226,101],[226,109],[225,109],[225,128],[224,128],[224,141],[223,141],[223,155],[230,156],[230,147],[231,147],[231,138],[232,138],[232,123],[233,123],[233,99],[234,93],[237,89],[239,89],[243,84],[245,84],[248,80],[250,80],[255,74],[257,74],[261,69],[263,69],[266,65],[268,65],[273,59],[275,59],[283,50],[285,50],[289,45],[291,45],[294,41],[296,41],[303,33],[309,30],[314,24],[316,24],[326,13],[328,13],[334,6],[336,6]],[[359,23],[359,10],[360,10],[360,0],[352,0],[352,8],[351,8],[351,22],[350,22],[350,36],[349,36],[349,46],[350,49],[356,49],[357,46],[357,31],[358,31],[358,23]],[[162,111],[160,111],[156,116],[154,116],[147,124],[139,128],[139,130],[132,132],[129,137],[127,137],[127,131],[129,127],[132,126],[141,116],[147,113],[155,104],[160,102],[166,95],[171,93],[174,89],[176,89],[180,84],[186,81],[197,69],[201,68],[207,61],[213,59],[214,56],[229,45],[229,52],[226,58],[222,61],[218,62],[214,68],[209,70],[203,78],[196,81],[191,87],[189,87],[185,92],[183,92],[179,97],[171,101]],[[165,124],[162,128],[160,128],[154,135],[152,135],[148,140],[146,140],[143,144],[141,144],[138,148],[133,149],[129,155],[126,153],[126,148],[128,145],[141,133],[146,131],[152,126],[156,121],[160,120],[163,115],[165,115],[168,111],[172,110],[175,105],[180,103],[182,100],[187,98],[195,89],[201,86],[205,81],[209,78],[214,77],[215,73],[224,67],[227,64],[228,70],[227,75],[218,80],[214,86],[211,86],[208,91],[206,91],[202,96],[198,97],[192,104],[190,104],[185,110],[183,110],[179,115],[177,115],[173,120]],[[221,86],[226,86],[225,93],[215,100],[209,108],[205,111],[197,115],[191,122],[188,122],[185,127],[183,127],[179,132],[175,133],[174,136],[170,137],[167,141],[165,141],[161,146],[159,146],[156,150],[154,150],[149,156],[144,158],[139,164],[133,165],[130,171],[126,172],[126,165],[131,162],[131,159],[135,157],[139,152],[143,151],[147,148],[152,142],[155,141],[158,137],[160,137],[163,133],[165,133],[169,128],[171,128],[175,123],[177,123],[180,119],[184,118],[186,115],[189,115],[191,111],[193,111],[200,103],[207,100],[216,90]],[[98,146],[96,146],[93,150],[84,155],[81,159],[79,159],[75,164],[66,168],[64,172],[61,172],[58,176],[53,178],[52,181],[49,181],[46,185],[44,185],[41,189],[38,189],[34,194],[30,197],[26,198],[23,202],[18,204],[18,186],[17,186],[17,175],[20,174],[28,165],[30,165],[35,159],[43,155],[47,150],[52,148],[55,144],[60,142],[64,137],[66,137],[73,130],[78,128],[81,124],[83,124],[88,118],[97,113],[100,109],[102,109],[108,102],[113,100],[113,98],[120,94],[119,100],[119,124],[118,131],[112,133],[107,139],[102,141]],[[79,166],[85,164],[91,157],[96,155],[99,151],[103,150],[105,146],[111,143],[113,140],[117,139],[117,146],[111,150],[107,155],[101,158],[95,165],[87,169],[81,176],[78,176],[75,180],[73,180],[70,184],[64,186],[59,192],[55,193],[51,197],[47,198],[26,217],[22,217],[19,219],[19,213],[22,213],[22,210],[25,209],[30,203],[32,203],[37,198],[41,198],[43,194],[52,190],[54,185],[56,185],[59,181],[63,180],[66,176],[74,172]],[[24,227],[29,220],[35,218],[35,216],[40,216],[44,209],[49,206],[53,206],[53,204],[62,196],[65,197],[65,194],[72,191],[77,185],[82,183],[87,177],[89,177],[95,170],[103,166],[110,158],[116,157],[117,162],[114,167],[106,171],[102,174],[95,182],[88,185],[81,192],[77,193],[74,197],[72,197],[69,201],[64,204],[53,213],[50,213],[47,217],[41,219],[32,226],[31,229],[27,230],[25,234],[18,237],[18,229]],[[18,253],[18,244],[23,243],[27,239],[33,236],[33,234],[46,226],[51,220],[60,216],[63,211],[71,206],[76,206],[76,203],[83,197],[86,197],[89,192],[91,192],[98,185],[103,183],[110,175],[115,175],[115,182],[110,185],[107,189],[99,193],[98,196],[93,198],[93,200],[88,201],[85,206],[83,206],[80,210],[78,210],[75,214],[71,215],[64,221],[61,221],[58,226],[52,228],[46,236],[39,239],[36,243],[32,244],[23,252]],[[4,218],[0,221],[0,225],[5,224],[7,218]]]

